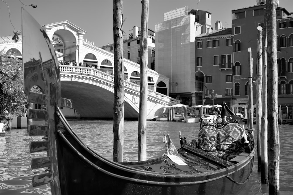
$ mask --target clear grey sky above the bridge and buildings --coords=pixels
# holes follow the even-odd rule
[[[68,20],[87,33],[84,39],[101,47],[113,43],[113,0],[4,0],[10,8],[11,22],[16,30],[21,30],[21,7],[24,7],[43,26]],[[225,28],[231,28],[231,10],[253,6],[256,0],[149,0],[149,28],[163,22],[163,14],[187,6],[189,9],[205,10],[210,13],[212,24],[217,20]],[[293,12],[293,0],[280,0],[279,7]],[[133,26],[141,25],[141,0],[123,1],[122,29],[128,36]],[[0,0],[0,36],[13,35],[7,5]]]

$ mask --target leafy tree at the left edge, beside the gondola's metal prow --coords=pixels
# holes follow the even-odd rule
[[[0,122],[7,124],[10,113],[27,102],[23,92],[22,60],[0,53]]]

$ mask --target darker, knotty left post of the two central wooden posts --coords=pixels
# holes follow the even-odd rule
[[[114,162],[123,162],[124,66],[123,66],[122,10],[123,10],[123,1],[113,0],[113,39],[114,39],[113,161]]]

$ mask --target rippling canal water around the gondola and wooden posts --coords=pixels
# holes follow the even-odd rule
[[[69,121],[76,134],[88,146],[105,158],[113,160],[113,121]],[[293,194],[293,126],[280,125],[280,194]],[[138,121],[124,122],[124,162],[137,161]],[[160,157],[165,152],[163,133],[170,134],[179,148],[179,131],[186,139],[197,138],[198,123],[147,121],[147,158]],[[256,140],[256,139],[255,139]],[[30,160],[45,156],[46,153],[30,153],[29,143],[42,141],[41,136],[29,136],[26,129],[13,129],[0,137],[0,194],[51,194],[50,185],[32,187],[31,177],[45,172],[45,168],[31,170]],[[257,171],[257,155],[253,173],[241,195],[268,194],[267,184],[261,184]]]

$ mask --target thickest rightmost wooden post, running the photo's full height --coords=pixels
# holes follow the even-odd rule
[[[278,126],[277,0],[267,0],[268,36],[268,186],[269,194],[280,194],[280,138]]]

